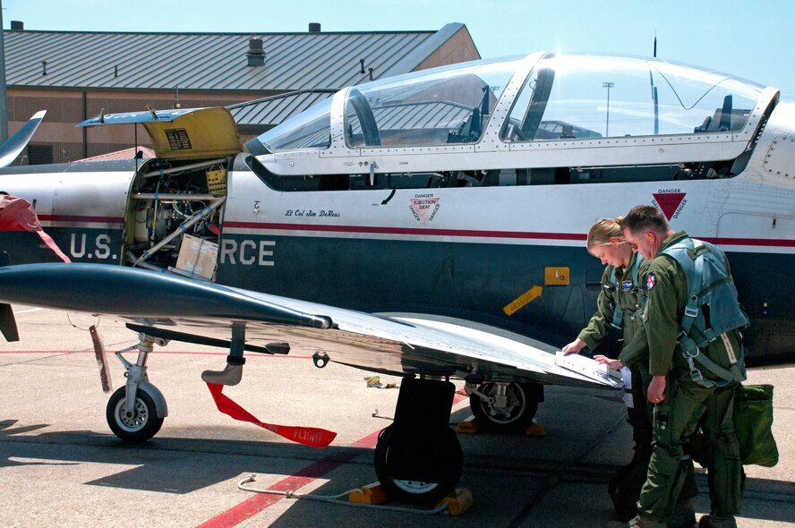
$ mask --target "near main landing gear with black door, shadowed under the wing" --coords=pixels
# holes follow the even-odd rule
[[[380,432],[375,473],[394,500],[434,504],[458,483],[464,455],[449,427],[456,387],[449,381],[405,378],[395,422]]]

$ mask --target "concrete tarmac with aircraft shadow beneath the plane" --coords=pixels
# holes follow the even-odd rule
[[[202,370],[225,364],[223,350],[171,343],[150,354],[149,376],[169,415],[139,447],[116,439],[106,422],[109,395],[99,385],[87,328],[99,323],[108,351],[136,343],[108,319],[15,306],[21,341],[0,338],[0,523],[4,526],[613,526],[607,481],[632,455],[619,394],[547,387],[537,420],[546,436],[459,434],[459,486],[474,506],[463,515],[348,507],[329,498],[376,481],[372,448],[389,425],[396,388],[367,387],[369,374],[307,356],[246,354],[244,379],[225,394],[262,422],[334,430],[323,449],[304,447],[219,413]],[[128,354],[134,361],[135,355]],[[124,383],[112,355],[114,387]],[[795,367],[750,370],[748,383],[771,383],[774,468],[747,466],[740,527],[795,525]],[[400,379],[380,377],[382,383]],[[460,387],[460,383],[458,384]],[[377,411],[376,411],[377,410]],[[376,416],[373,416],[376,414]],[[451,426],[470,416],[461,397]],[[291,490],[285,498],[241,490]],[[709,509],[699,470],[697,511]]]

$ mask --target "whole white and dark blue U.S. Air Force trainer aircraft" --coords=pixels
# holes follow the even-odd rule
[[[224,108],[82,125],[114,123],[142,123],[157,158],[0,173],[73,260],[0,233],[0,300],[140,335],[108,405],[123,439],[149,439],[166,415],[146,378],[152,345],[229,347],[231,367],[209,376],[224,383],[244,349],[292,346],[319,366],[406,376],[376,472],[398,497],[443,496],[461,472],[447,379],[505,427],[533,418],[545,384],[615,386],[554,352],[602,288],[588,228],[639,203],[728,252],[748,362],[791,359],[795,105],[776,89],[657,59],[538,53],[342,89],[246,151]]]

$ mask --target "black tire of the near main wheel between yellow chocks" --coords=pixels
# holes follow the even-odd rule
[[[423,431],[427,433],[427,431]],[[458,443],[456,432],[450,429],[439,431],[440,441],[428,442],[427,444],[418,442],[417,439],[406,439],[405,434],[395,434],[393,425],[380,432],[378,444],[375,447],[375,474],[378,476],[381,487],[389,498],[398,502],[410,504],[437,504],[441,498],[447,497],[455,489],[461,473],[464,469],[464,453],[461,444]],[[435,453],[425,453],[423,455],[432,456],[437,460],[444,471],[440,471],[438,482],[427,482],[418,480],[395,479],[390,476],[389,456],[396,450],[398,442],[411,441],[413,447],[429,447],[435,445]],[[434,447],[430,447],[434,448]],[[398,451],[405,452],[406,449],[398,448]],[[395,461],[391,461],[393,464]]]

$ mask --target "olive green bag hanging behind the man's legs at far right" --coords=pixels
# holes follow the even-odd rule
[[[734,430],[742,464],[773,467],[778,447],[773,438],[773,386],[740,385],[734,392]]]

